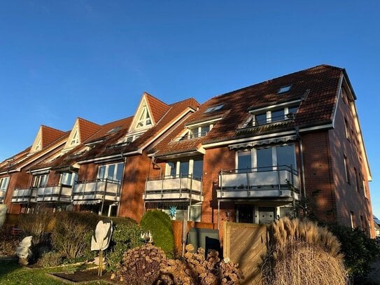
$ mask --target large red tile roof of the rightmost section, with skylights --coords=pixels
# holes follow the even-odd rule
[[[153,151],[157,151],[157,155],[183,153],[193,151],[201,144],[244,137],[246,134],[241,134],[237,130],[250,116],[249,110],[295,99],[304,98],[295,116],[295,122],[293,125],[272,126],[277,127],[277,131],[289,127],[293,127],[294,130],[294,125],[307,127],[331,123],[343,72],[344,69],[338,67],[320,65],[213,97],[199,106],[199,111],[193,113],[183,125],[176,127],[166,139],[155,146]],[[291,85],[290,90],[278,94],[280,88],[286,85]],[[223,107],[218,111],[205,113],[210,107],[221,104]],[[185,130],[186,124],[199,123],[215,117],[222,119],[205,137],[175,141],[175,138]],[[251,132],[251,136],[271,131],[273,130],[257,128]]]

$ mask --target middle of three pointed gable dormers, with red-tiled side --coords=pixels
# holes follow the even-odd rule
[[[101,128],[100,125],[85,120],[83,118],[77,118],[73,128],[71,129],[69,139],[67,139],[64,146],[64,151],[70,150],[88,139],[92,134],[97,132]]]

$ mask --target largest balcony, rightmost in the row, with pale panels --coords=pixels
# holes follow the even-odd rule
[[[293,187],[290,187],[290,184]],[[298,174],[286,165],[234,169],[219,174],[218,199],[294,198],[298,200]]]

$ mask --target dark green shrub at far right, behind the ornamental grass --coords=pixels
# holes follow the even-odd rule
[[[328,228],[342,244],[344,261],[350,276],[362,281],[371,270],[371,263],[379,256],[379,247],[374,239],[356,228],[352,230],[344,225],[330,224]]]

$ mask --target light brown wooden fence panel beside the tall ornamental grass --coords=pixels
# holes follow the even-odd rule
[[[223,256],[239,263],[243,284],[261,284],[262,256],[267,253],[267,226],[252,223],[223,225]]]

